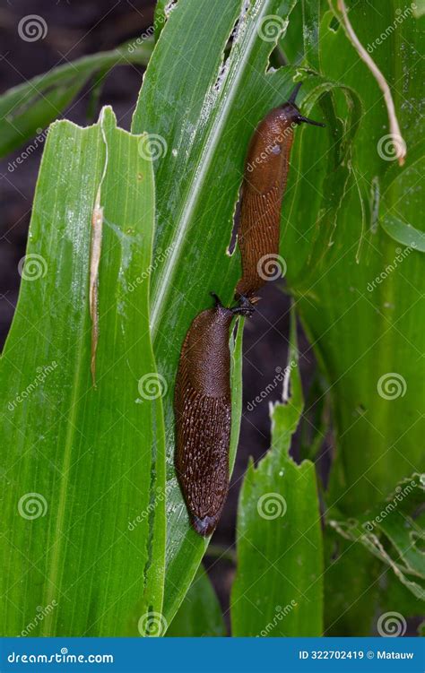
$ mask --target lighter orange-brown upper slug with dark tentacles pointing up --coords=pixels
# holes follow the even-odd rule
[[[279,263],[282,197],[295,126],[303,122],[325,126],[300,114],[295,99],[301,83],[288,102],[265,116],[249,145],[238,231],[242,278],[236,286],[236,298],[252,298],[266,280],[272,280],[268,269],[274,266],[275,270]]]

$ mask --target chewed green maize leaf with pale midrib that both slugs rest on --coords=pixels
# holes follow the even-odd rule
[[[267,71],[294,4],[179,0],[161,31],[134,113],[134,132],[150,133],[156,157],[152,336],[160,374],[169,384],[163,400],[168,438],[164,603],[168,620],[183,600],[205,549],[204,540],[190,529],[174,473],[172,388],[179,352],[195,315],[211,306],[209,292],[229,303],[239,277],[239,252],[226,253],[247,146],[260,119],[288,99],[294,86],[294,68]],[[299,96],[303,110],[306,103],[312,108],[325,91],[339,86],[308,78],[306,71],[299,71],[299,76],[306,77]],[[351,91],[345,92],[355,113],[358,101]],[[355,134],[355,119],[354,114],[347,116],[347,143]],[[309,127],[308,142],[316,142],[320,133]],[[307,131],[297,130],[296,142],[304,134]],[[235,391],[233,403],[237,405]],[[239,424],[235,407],[233,417]]]

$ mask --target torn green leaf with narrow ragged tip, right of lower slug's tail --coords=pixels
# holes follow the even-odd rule
[[[292,329],[292,343],[295,329]],[[323,552],[316,472],[289,455],[303,401],[298,352],[290,350],[291,397],[272,411],[272,448],[242,487],[238,570],[231,595],[236,636],[318,636],[323,630]],[[285,393],[284,393],[285,395]],[[255,608],[253,608],[255,606]]]

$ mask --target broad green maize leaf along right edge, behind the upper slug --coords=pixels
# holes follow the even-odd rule
[[[393,92],[407,157],[403,168],[395,161],[382,93],[347,39],[340,14],[323,13],[321,72],[355,91],[357,99],[347,99],[343,89],[324,96],[328,134],[317,135],[313,152],[304,138],[294,147],[281,255],[328,382],[335,460],[326,505],[349,519],[378,505],[395,474],[403,479],[424,469],[425,260],[419,245],[423,141],[417,87],[423,79],[423,31],[401,2],[382,4],[378,12],[367,4],[346,4],[354,30]],[[385,31],[384,43],[377,44]],[[353,108],[354,100],[360,108]],[[350,116],[357,119],[356,134]],[[388,236],[390,219],[412,229],[393,227]],[[402,236],[408,237],[403,248]],[[418,246],[411,247],[413,242]],[[344,554],[325,571],[326,597],[334,600],[334,587],[345,582],[341,608],[334,610],[343,615],[339,634],[363,633],[377,609],[376,584],[386,566],[362,558],[356,582],[346,582]]]

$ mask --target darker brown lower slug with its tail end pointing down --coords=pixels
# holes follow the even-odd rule
[[[181,349],[174,393],[176,470],[187,511],[197,533],[210,535],[229,490],[230,324],[251,315],[242,301],[196,315]]]

